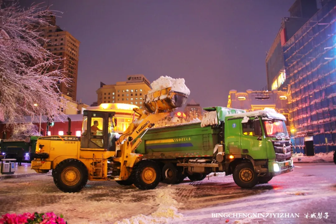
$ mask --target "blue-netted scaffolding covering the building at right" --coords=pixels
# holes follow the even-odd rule
[[[294,152],[336,150],[336,3],[328,1],[283,46]]]

